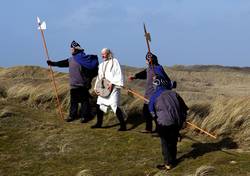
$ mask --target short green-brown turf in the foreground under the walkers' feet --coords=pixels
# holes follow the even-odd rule
[[[65,123],[55,112],[13,104],[0,104],[5,112],[15,112],[0,118],[3,176],[160,174],[155,168],[162,162],[159,138],[139,133],[144,124],[135,119],[136,115],[128,123],[129,131],[118,132],[112,114],[106,116],[103,129],[90,129],[95,119],[87,124],[78,120]],[[134,121],[137,126],[131,128]],[[250,172],[250,153],[237,152],[232,138],[214,141],[190,135],[188,129],[182,133],[183,141],[178,143],[180,163],[169,175],[194,174],[202,165],[215,167],[219,175]]]

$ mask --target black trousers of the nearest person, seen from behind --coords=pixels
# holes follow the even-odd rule
[[[179,130],[177,125],[158,126],[164,164],[175,165]]]

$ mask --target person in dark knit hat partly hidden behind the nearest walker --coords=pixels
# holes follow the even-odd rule
[[[129,80],[135,80],[135,79],[146,79],[146,90],[145,90],[145,98],[149,99],[154,92],[153,88],[153,77],[157,74],[160,75],[162,78],[164,78],[167,82],[172,83],[169,84],[169,89],[176,87],[176,82],[172,82],[169,78],[169,76],[164,71],[163,67],[158,63],[157,56],[152,53],[146,54],[146,64],[148,67],[144,69],[143,71],[136,73],[134,76],[129,76]],[[143,117],[146,120],[146,127],[145,130],[143,130],[143,133],[151,133],[153,132],[153,123],[152,123],[152,116],[150,112],[148,111],[148,102],[144,102],[143,105]],[[156,124],[156,130],[157,131],[157,123]]]

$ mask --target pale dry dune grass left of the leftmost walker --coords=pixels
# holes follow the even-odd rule
[[[0,83],[5,85],[5,97],[16,98],[33,106],[53,106],[55,93],[50,81],[50,72],[41,67],[25,66],[0,70]],[[68,76],[64,73],[55,73],[59,98],[63,106],[68,107]],[[4,94],[4,91],[1,91]]]

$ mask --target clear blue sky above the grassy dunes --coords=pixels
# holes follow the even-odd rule
[[[46,67],[36,17],[47,24],[51,60],[110,48],[122,65],[145,66],[143,23],[164,66],[250,66],[249,0],[2,0],[0,67]]]

